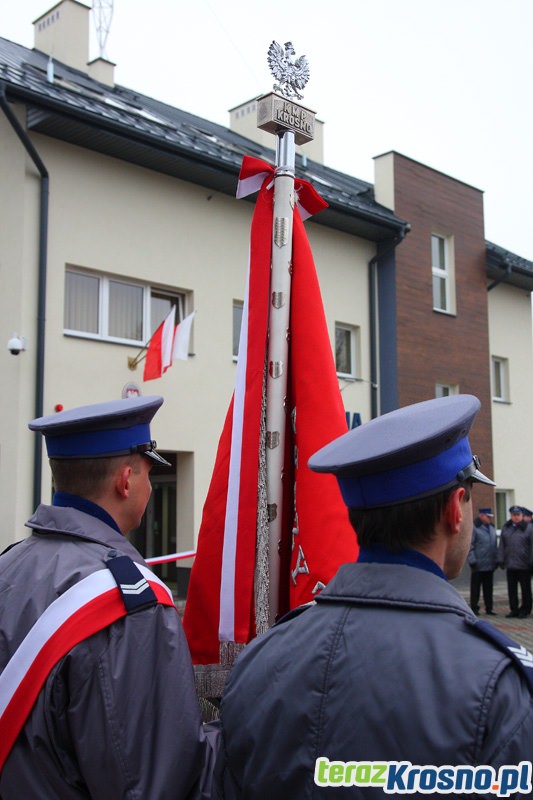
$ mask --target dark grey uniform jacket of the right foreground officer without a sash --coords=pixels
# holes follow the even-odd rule
[[[445,579],[402,564],[344,565],[316,605],[248,645],[222,728],[227,800],[390,796],[318,787],[321,757],[498,768],[533,754],[519,666]]]

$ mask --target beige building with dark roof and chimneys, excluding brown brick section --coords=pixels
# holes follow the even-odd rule
[[[235,383],[253,214],[253,203],[235,199],[238,169],[246,153],[271,162],[273,153],[251,129],[227,131],[115,87],[109,62],[84,66],[88,13],[62,0],[35,22],[34,50],[0,39],[0,319],[5,343],[16,334],[26,347],[18,355],[0,350],[0,548],[25,535],[35,503],[52,494],[46,453],[36,450],[28,420],[37,410],[52,414],[133,389],[164,397],[153,435],[173,464],[171,474],[154,474],[138,534],[151,556],[196,541]],[[81,56],[58,54],[57,42],[70,37],[54,38],[50,25],[39,35],[39,22],[51,17],[59,33],[61,25],[77,31]],[[237,109],[231,114],[237,120]],[[250,118],[238,117],[246,125]],[[306,229],[353,424],[386,410],[379,400],[389,356],[380,341],[385,311],[372,293],[372,270],[387,280],[409,226],[375,201],[370,184],[321,164],[318,128],[318,144],[298,154],[297,172],[329,203]],[[144,382],[143,362],[132,370],[131,360],[171,305],[179,318],[197,312],[190,357]],[[496,477],[526,503],[531,482],[512,468],[503,432],[533,427],[519,382],[532,367],[527,291],[517,300],[516,287],[496,288],[489,317],[491,353],[510,359],[513,348],[511,402],[493,409]]]

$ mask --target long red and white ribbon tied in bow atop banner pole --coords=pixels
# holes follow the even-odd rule
[[[259,191],[252,223],[251,252],[243,306],[239,359],[235,392],[228,476],[228,491],[223,535],[220,584],[219,641],[243,642],[250,638],[253,564],[257,520],[258,444],[263,388],[263,367],[267,348],[270,261],[272,249],[272,189],[274,168],[260,159],[243,159],[237,198]],[[326,203],[306,181],[295,181],[296,205],[302,220],[326,207]],[[252,269],[253,265],[253,269]],[[254,314],[250,321],[250,314]],[[250,324],[252,322],[252,324]],[[249,335],[253,333],[253,335]],[[253,460],[255,459],[255,460]],[[245,480],[248,484],[246,490]],[[253,497],[253,503],[250,498]],[[247,558],[239,558],[239,528],[247,531]],[[239,569],[245,567],[246,573]],[[243,595],[239,584],[245,580]],[[243,602],[250,598],[250,604]],[[244,612],[244,613],[243,613]]]

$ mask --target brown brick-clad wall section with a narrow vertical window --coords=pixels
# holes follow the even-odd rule
[[[395,212],[411,223],[396,251],[399,405],[458,384],[482,403],[470,440],[492,476],[490,352],[483,195],[460,181],[394,154]],[[431,234],[454,237],[456,314],[433,311]],[[494,506],[476,488],[474,508]]]

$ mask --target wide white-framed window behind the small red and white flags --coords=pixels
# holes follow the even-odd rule
[[[147,284],[67,268],[65,333],[90,339],[143,344],[176,306],[183,319],[185,296]]]

